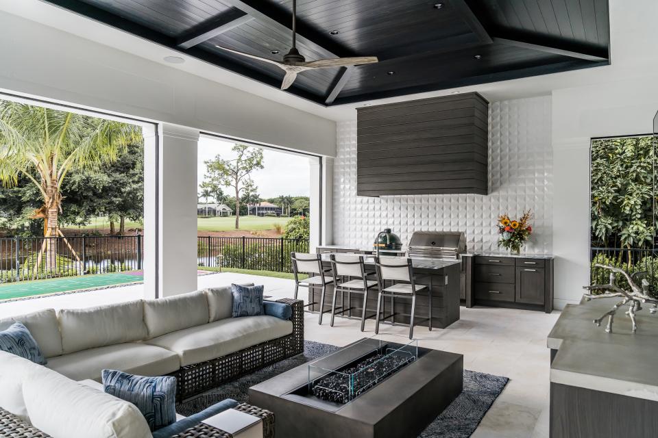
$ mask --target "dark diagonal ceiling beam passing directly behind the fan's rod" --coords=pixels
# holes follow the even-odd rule
[[[283,33],[291,33],[293,27],[293,16],[288,10],[280,5],[263,0],[222,0],[222,3],[239,9]],[[307,49],[318,53],[325,53],[328,57],[350,57],[357,56],[354,51],[345,47],[332,38],[328,32],[318,31],[300,21],[297,17],[297,42]]]

